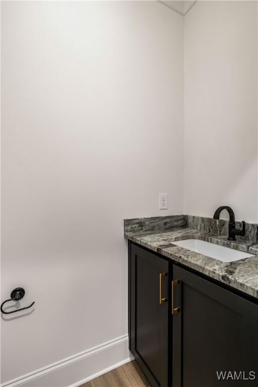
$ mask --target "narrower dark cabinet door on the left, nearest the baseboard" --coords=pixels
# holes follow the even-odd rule
[[[168,262],[131,244],[130,349],[156,387],[168,385]]]

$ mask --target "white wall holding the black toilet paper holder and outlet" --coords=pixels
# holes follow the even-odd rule
[[[2,382],[126,334],[122,220],[183,211],[182,28],[158,2],[2,2],[2,299],[36,301],[2,316]]]

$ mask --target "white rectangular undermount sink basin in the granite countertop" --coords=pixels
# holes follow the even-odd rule
[[[216,260],[222,262],[239,261],[247,258],[248,256],[253,256],[253,254],[248,252],[234,250],[233,248],[220,246],[218,244],[205,242],[204,240],[199,239],[177,240],[175,242],[171,241],[171,243],[187,248],[188,250],[210,256],[211,258],[215,258]]]

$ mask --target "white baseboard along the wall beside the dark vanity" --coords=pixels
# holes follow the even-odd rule
[[[79,387],[131,360],[128,335],[124,335],[4,382],[1,387]]]

